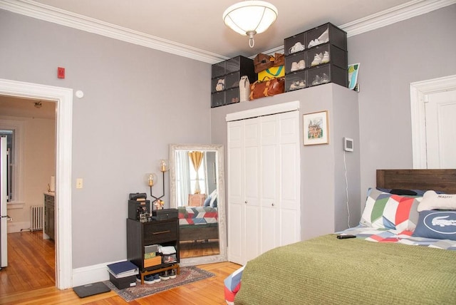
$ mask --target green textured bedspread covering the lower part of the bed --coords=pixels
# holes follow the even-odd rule
[[[324,235],[248,262],[235,304],[456,304],[456,251]]]

